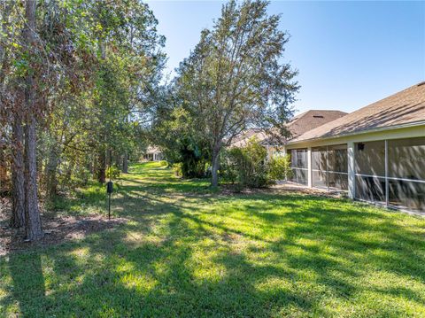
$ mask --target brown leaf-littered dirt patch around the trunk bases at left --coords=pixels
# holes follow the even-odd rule
[[[65,241],[80,239],[93,232],[126,223],[125,218],[113,218],[108,221],[104,215],[70,216],[55,213],[42,214],[44,237],[38,242],[26,242],[23,229],[12,229],[9,226],[11,205],[0,198],[0,256],[12,251],[26,250],[34,246],[47,246]]]

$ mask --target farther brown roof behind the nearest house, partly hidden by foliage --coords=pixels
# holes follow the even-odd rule
[[[290,131],[290,139],[295,138],[304,134],[306,131],[317,128],[329,121],[336,120],[345,116],[346,112],[340,111],[321,111],[321,110],[312,110],[307,112],[302,112],[295,116],[288,124],[286,125]],[[231,146],[232,147],[241,147],[243,146],[252,136],[256,136],[259,142],[263,143],[273,143],[272,137],[268,136],[267,133],[258,128],[251,128],[244,130],[239,136],[236,136]]]

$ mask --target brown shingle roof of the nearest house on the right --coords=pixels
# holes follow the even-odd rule
[[[425,124],[425,81],[318,128],[306,131],[290,143],[352,135],[406,124]]]

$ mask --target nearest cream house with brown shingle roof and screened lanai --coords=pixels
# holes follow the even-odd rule
[[[285,145],[292,181],[425,213],[425,81]]]

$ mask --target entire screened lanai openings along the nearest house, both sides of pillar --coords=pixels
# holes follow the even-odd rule
[[[352,144],[352,171],[346,143],[290,150],[291,181],[348,190],[352,173],[353,198],[425,213],[425,137]]]

